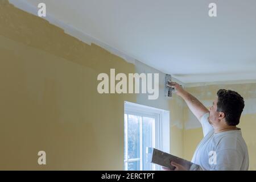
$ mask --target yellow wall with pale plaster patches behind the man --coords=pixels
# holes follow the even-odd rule
[[[256,170],[256,84],[218,84],[208,86],[196,86],[192,88],[186,88],[188,92],[197,97],[201,102],[209,108],[212,101],[217,96],[219,89],[230,89],[240,93],[245,99],[245,109],[241,117],[240,125],[238,127],[242,130],[243,138],[247,144],[250,158],[250,170]],[[193,152],[199,144],[201,138],[203,138],[203,131],[199,127],[191,127],[193,122],[194,126],[200,126],[199,121],[196,118],[189,117],[192,115],[188,107],[184,107],[184,158],[191,160]],[[188,127],[189,126],[189,127]]]

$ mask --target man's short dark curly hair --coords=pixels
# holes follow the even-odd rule
[[[225,114],[226,123],[229,126],[236,126],[245,107],[245,101],[235,91],[220,89],[217,92],[217,111]]]

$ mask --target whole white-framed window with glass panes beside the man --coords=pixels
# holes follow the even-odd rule
[[[125,102],[124,117],[124,169],[128,171],[159,170],[159,166],[150,163],[147,150],[148,147],[163,150],[162,123],[163,120],[169,122],[169,111]],[[166,137],[170,138],[168,135]],[[169,142],[165,146],[168,147]],[[166,149],[168,152],[169,147]]]

